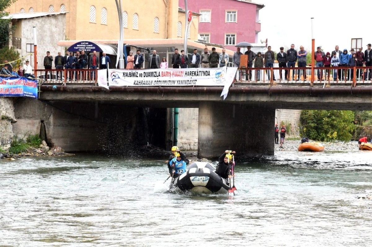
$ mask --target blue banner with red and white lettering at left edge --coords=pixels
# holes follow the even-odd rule
[[[0,76],[0,96],[38,98],[38,81],[25,77]]]

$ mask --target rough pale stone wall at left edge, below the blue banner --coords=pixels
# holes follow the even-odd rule
[[[13,138],[14,116],[13,98],[0,98],[0,147],[9,149]]]

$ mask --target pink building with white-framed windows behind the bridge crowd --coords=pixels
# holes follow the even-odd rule
[[[184,0],[179,0],[179,7],[185,9]],[[263,7],[250,0],[187,0],[187,8],[201,14],[199,35],[208,43],[230,50],[235,50],[234,46],[242,41],[258,42],[259,10]]]

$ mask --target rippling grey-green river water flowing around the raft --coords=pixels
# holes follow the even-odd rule
[[[0,246],[372,246],[372,152],[276,152],[228,195],[167,192],[165,159],[0,161]]]

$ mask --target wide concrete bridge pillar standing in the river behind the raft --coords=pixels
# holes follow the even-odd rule
[[[275,109],[228,103],[199,103],[198,158],[226,149],[252,157],[274,154]]]

